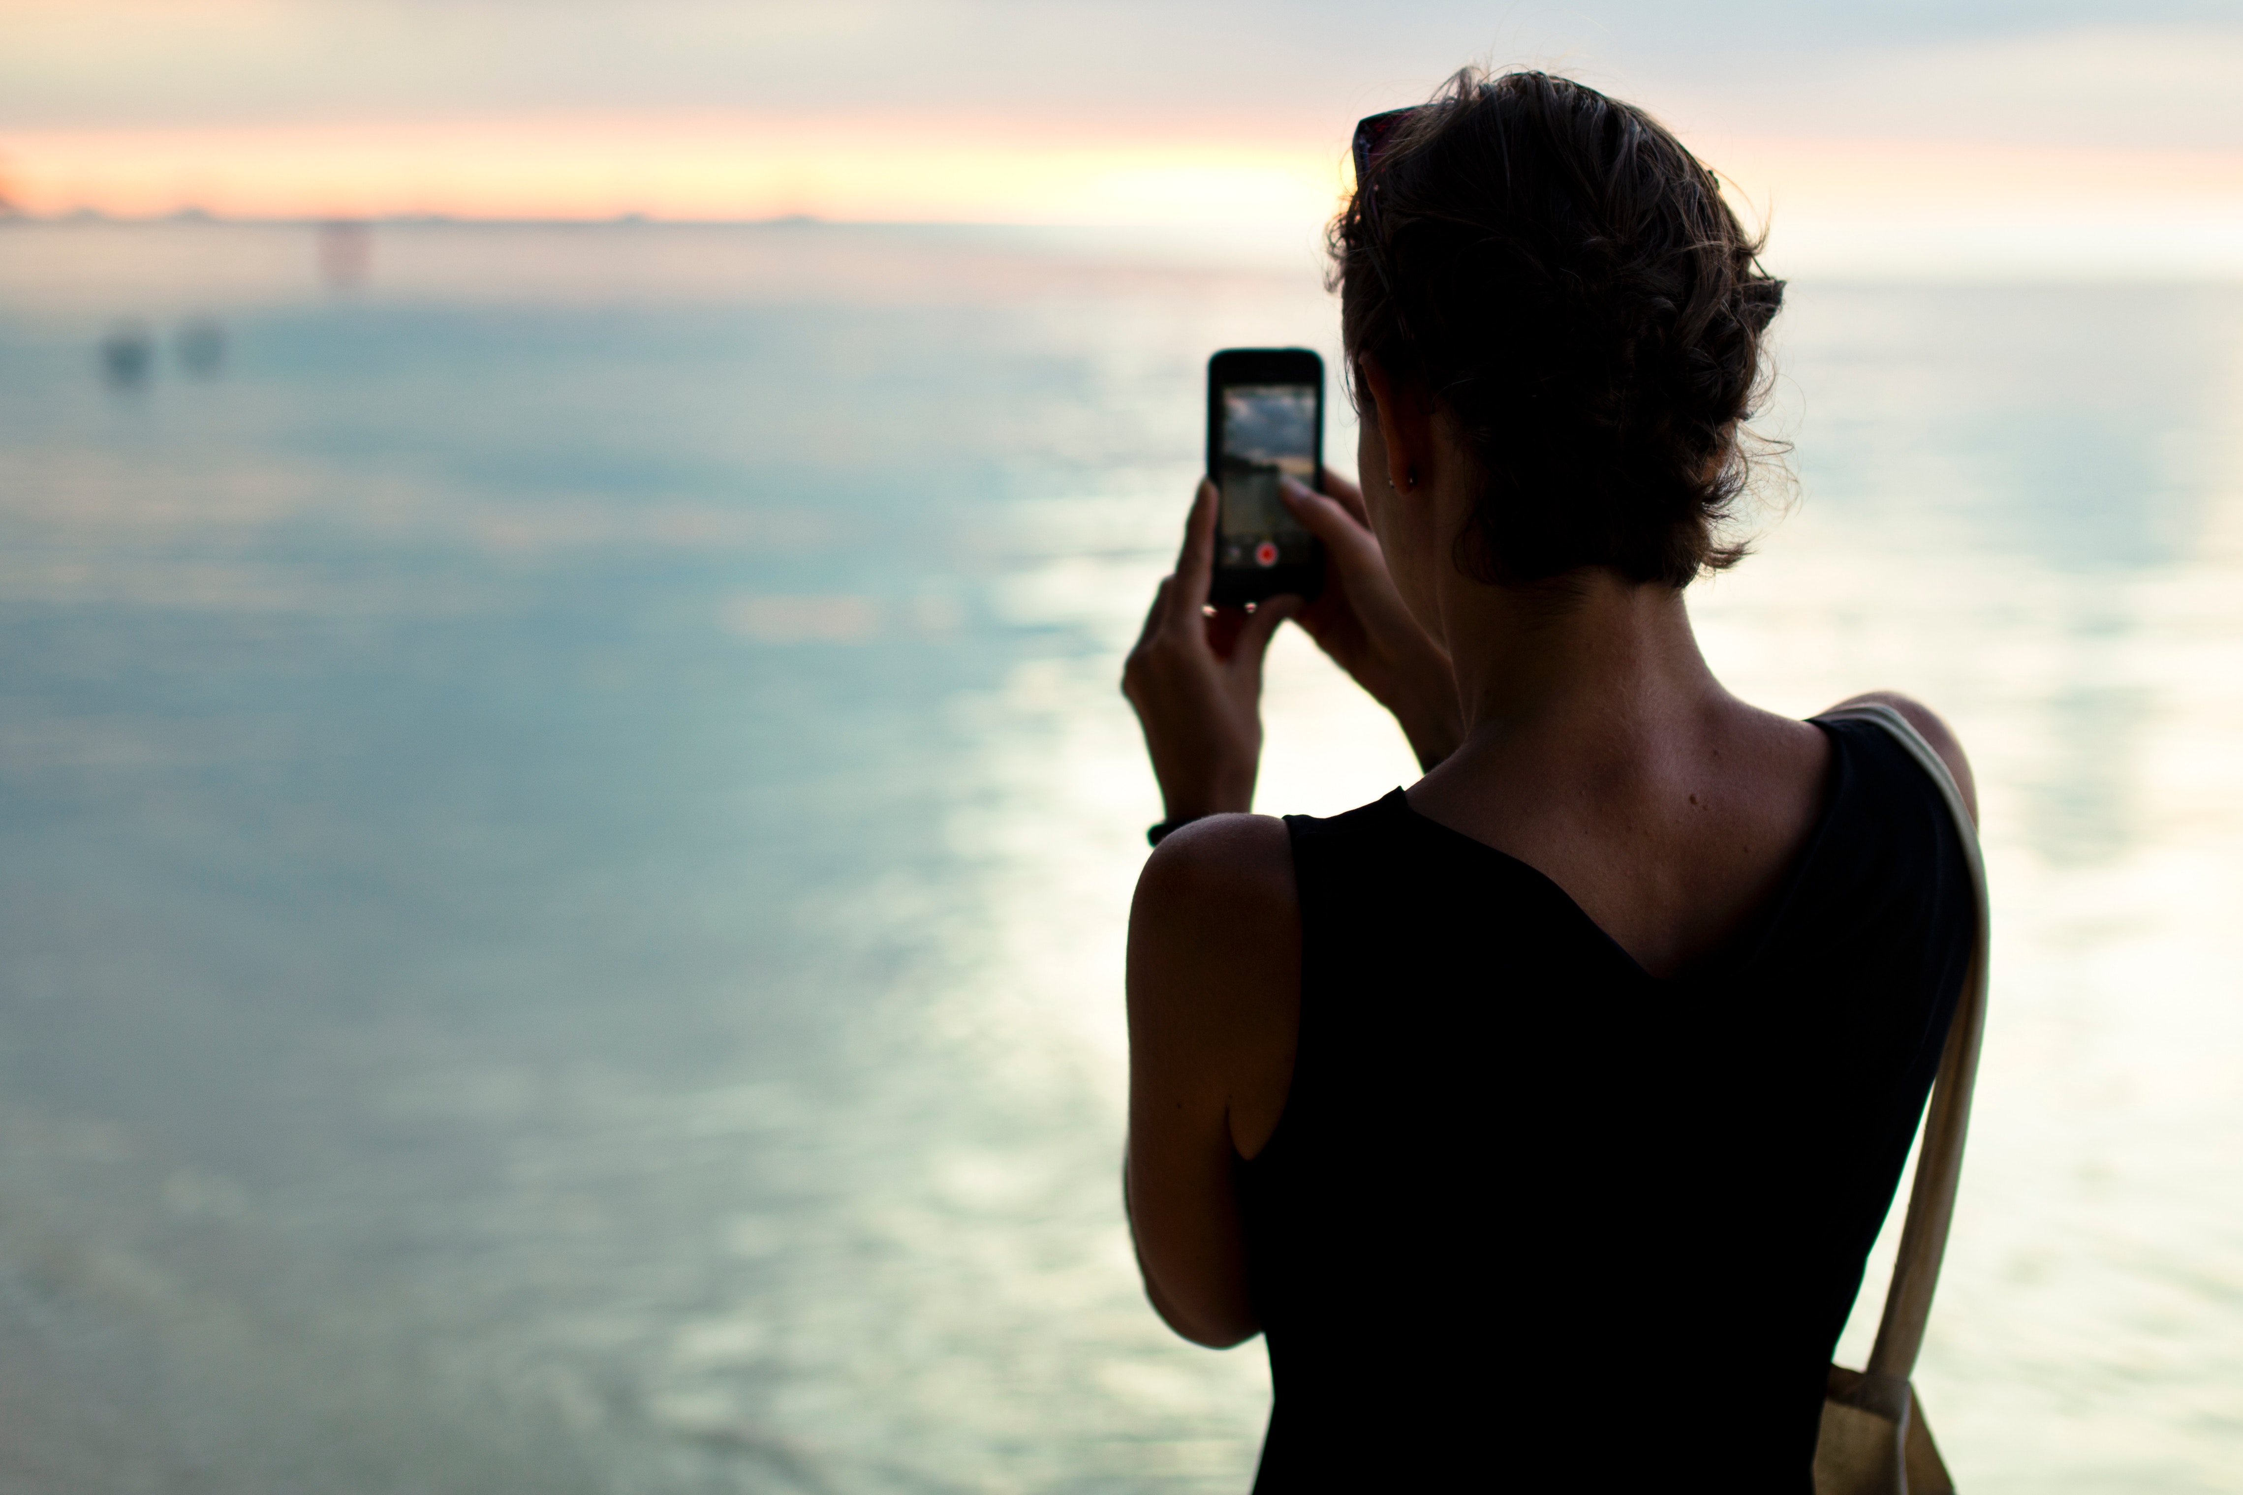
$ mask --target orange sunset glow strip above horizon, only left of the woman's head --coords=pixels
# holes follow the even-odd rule
[[[22,211],[150,217],[1169,222],[1330,211],[1341,150],[895,119],[536,119],[16,132]]]

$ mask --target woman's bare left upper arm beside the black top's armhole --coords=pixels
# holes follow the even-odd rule
[[[1128,1206],[1146,1296],[1200,1345],[1261,1325],[1238,1210],[1240,1107],[1292,1074],[1301,914],[1285,825],[1211,816],[1153,852],[1128,930]]]

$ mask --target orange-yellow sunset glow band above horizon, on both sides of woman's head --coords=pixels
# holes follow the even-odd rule
[[[16,130],[0,191],[36,217],[985,222],[1283,231],[1348,168],[1308,130],[1124,134],[1007,121],[547,117]],[[2243,267],[2243,150],[1709,134],[1693,146],[1776,251],[1850,267],[1956,251],[2059,269]]]

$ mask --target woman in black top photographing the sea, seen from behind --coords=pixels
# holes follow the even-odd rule
[[[1270,1343],[1256,1491],[1808,1491],[1972,894],[1880,728],[1707,670],[1682,605],[1781,282],[1682,146],[1543,74],[1364,121],[1332,229],[1359,486],[1312,603],[1209,616],[1200,486],[1124,690],[1169,820],[1128,944],[1146,1291]],[[1296,619],[1427,769],[1245,814]],[[1938,717],[1882,699],[1969,793]]]

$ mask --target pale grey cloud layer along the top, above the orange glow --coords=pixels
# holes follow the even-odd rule
[[[2243,146],[2239,45],[2232,2],[2194,0],[1420,0],[1379,13],[1339,0],[0,0],[0,123],[655,110],[1344,130],[1483,61],[1579,72],[1720,130],[1828,134],[1846,119],[1871,134],[1967,123],[2007,137],[2185,117]]]

